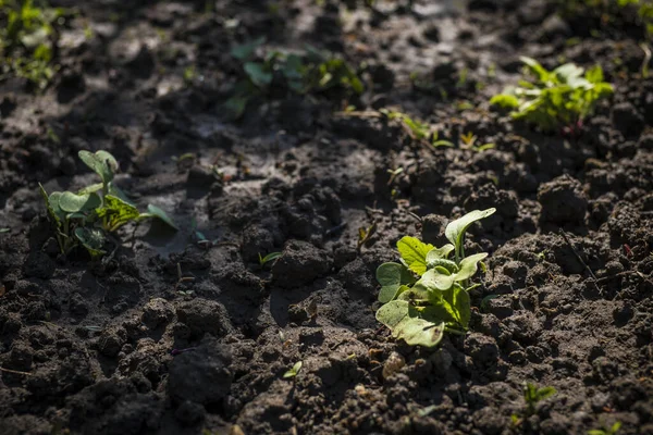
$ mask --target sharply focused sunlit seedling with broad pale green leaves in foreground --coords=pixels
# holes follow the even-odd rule
[[[465,334],[471,315],[469,290],[479,285],[470,278],[488,257],[485,252],[465,256],[465,233],[495,211],[475,210],[449,222],[445,236],[451,244],[442,248],[409,236],[397,241],[402,262],[377,269],[379,301],[384,303],[377,311],[377,320],[394,338],[433,347],[445,332]]]

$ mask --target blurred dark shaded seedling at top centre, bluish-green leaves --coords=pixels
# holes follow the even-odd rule
[[[283,85],[293,92],[320,92],[343,88],[361,94],[364,85],[356,71],[343,59],[329,55],[311,46],[301,54],[279,50],[259,50],[266,42],[261,37],[232,48],[231,54],[242,62],[245,78],[236,83],[234,95],[226,107],[239,117],[247,102],[255,96],[267,94],[274,84]],[[258,51],[264,51],[262,57]]]

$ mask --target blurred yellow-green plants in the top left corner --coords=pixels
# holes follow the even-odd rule
[[[44,89],[56,66],[57,26],[62,8],[38,0],[0,0],[0,79],[15,74]]]

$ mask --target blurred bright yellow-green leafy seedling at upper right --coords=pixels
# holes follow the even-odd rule
[[[492,97],[490,104],[510,109],[514,119],[532,123],[543,132],[565,128],[576,132],[596,102],[613,94],[612,85],[603,82],[601,66],[586,72],[566,63],[547,71],[534,59],[521,58],[521,61],[534,79],[522,79],[519,86],[506,88]]]

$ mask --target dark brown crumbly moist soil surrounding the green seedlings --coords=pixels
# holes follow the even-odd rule
[[[0,83],[0,434],[653,434],[653,79],[633,17],[348,3],[53,2],[78,14],[52,82]],[[230,50],[260,36],[329,50],[365,91],[273,82],[234,119]],[[572,135],[539,133],[488,103],[520,55],[600,64],[614,96]],[[180,231],[62,256],[38,183],[95,183],[83,149]],[[490,253],[469,333],[394,340],[377,266],[490,207],[467,240]],[[557,390],[532,415],[525,382]]]

